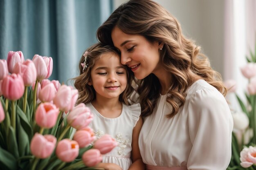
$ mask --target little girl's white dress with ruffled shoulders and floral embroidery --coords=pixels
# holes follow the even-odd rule
[[[86,104],[94,115],[90,127],[94,130],[97,138],[104,134],[111,135],[119,144],[111,152],[103,155],[103,163],[115,163],[123,170],[128,170],[132,161],[130,154],[132,150],[132,130],[135,127],[141,113],[139,104],[128,106],[123,104],[119,117],[103,117],[91,103]]]

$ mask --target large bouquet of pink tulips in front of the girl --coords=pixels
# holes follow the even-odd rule
[[[93,169],[117,146],[109,135],[95,140],[89,108],[75,106],[72,86],[47,79],[52,67],[21,51],[0,60],[0,170]]]

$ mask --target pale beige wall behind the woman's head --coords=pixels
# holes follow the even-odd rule
[[[126,0],[114,0],[117,8]],[[196,41],[211,61],[224,71],[224,0],[155,0],[173,14],[187,38]]]

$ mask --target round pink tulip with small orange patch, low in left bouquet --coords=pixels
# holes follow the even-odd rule
[[[79,154],[79,145],[76,141],[63,139],[58,142],[56,155],[63,162],[72,162]]]

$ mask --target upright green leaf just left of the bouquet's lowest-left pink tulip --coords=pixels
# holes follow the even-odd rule
[[[29,137],[20,124],[20,117],[17,117],[18,148],[20,156],[29,154]]]

